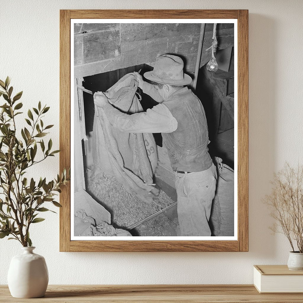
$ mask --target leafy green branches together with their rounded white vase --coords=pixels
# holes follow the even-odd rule
[[[24,254],[12,258],[8,271],[12,296],[36,298],[45,294],[48,271],[44,258],[33,253],[30,226],[45,220],[39,214],[52,211],[46,204],[61,207],[55,198],[61,192],[60,187],[70,180],[70,170],[64,169],[51,181],[26,177],[28,169],[55,156],[59,150],[52,150],[52,139],[47,144],[42,139],[53,125],[44,125],[42,118],[49,107],[41,102],[37,108],[28,109],[25,118],[28,126],[17,127],[16,116],[23,113],[20,111],[23,105],[18,101],[22,92],[13,97],[13,87],[9,85],[9,77],[5,82],[0,80],[0,97],[5,100],[0,106],[0,238],[15,239],[24,248]],[[26,265],[22,265],[22,260],[26,260],[23,262]],[[35,262],[29,265],[31,260]]]

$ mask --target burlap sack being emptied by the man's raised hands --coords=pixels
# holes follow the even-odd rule
[[[105,94],[120,111],[143,112],[136,95],[138,82],[133,74],[122,77]],[[102,108],[95,105],[93,126],[95,173],[114,176],[125,189],[135,191],[150,203],[158,190],[153,184],[157,166],[156,144],[152,134],[121,132],[110,125]]]

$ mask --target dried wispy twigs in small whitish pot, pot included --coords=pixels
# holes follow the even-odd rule
[[[294,169],[286,164],[274,174],[271,184],[273,188],[265,203],[278,224],[270,229],[284,234],[291,245],[288,268],[303,270],[303,166]]]

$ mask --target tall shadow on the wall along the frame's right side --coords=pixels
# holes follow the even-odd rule
[[[249,14],[249,252],[271,258],[278,243],[263,198],[276,170],[276,33],[276,20]]]

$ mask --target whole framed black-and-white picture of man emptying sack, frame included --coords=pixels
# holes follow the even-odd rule
[[[248,251],[248,11],[61,10],[60,251]]]

